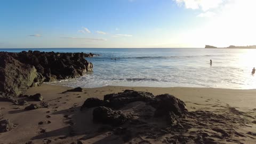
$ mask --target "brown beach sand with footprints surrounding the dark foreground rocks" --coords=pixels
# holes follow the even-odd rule
[[[43,84],[27,91],[28,95],[41,93],[44,101],[50,103],[49,108],[26,111],[24,110],[26,106],[0,102],[0,113],[3,114],[4,119],[10,119],[12,123],[18,125],[12,131],[0,133],[0,143],[26,143],[28,141],[34,143],[72,143],[78,139],[82,139],[84,143],[124,143],[113,132],[98,133],[102,125],[92,122],[93,109],[80,111],[79,108],[87,98],[103,99],[105,94],[123,92],[127,89],[151,92],[154,95],[169,93],[184,101],[188,110],[195,111],[193,114],[197,117],[196,119],[195,117],[194,119],[188,118],[191,125],[195,125],[195,127],[186,132],[177,132],[182,133],[184,137],[196,137],[196,133],[193,135],[193,131],[201,131],[209,135],[215,132],[220,136],[211,139],[218,142],[256,143],[256,135],[254,135],[256,133],[256,90],[106,86],[84,89],[84,92],[62,93],[68,89],[70,87]],[[35,101],[28,102],[38,103]],[[214,113],[214,116],[211,117],[213,113],[202,115],[198,111],[210,111]],[[224,118],[221,119],[220,116]],[[185,123],[188,119],[182,122]],[[209,123],[213,120],[217,122]],[[43,124],[39,125],[38,122],[43,122]],[[200,127],[198,123],[205,125],[203,126],[204,129],[201,129],[202,125]],[[233,135],[225,139],[225,130],[228,131],[229,128]],[[134,131],[136,130],[137,128],[134,128]],[[177,133],[172,132],[172,130],[168,131],[168,129],[163,131],[166,133],[161,136],[144,137],[138,135],[130,142],[172,143],[171,138]],[[254,132],[254,134],[248,134],[248,132]]]

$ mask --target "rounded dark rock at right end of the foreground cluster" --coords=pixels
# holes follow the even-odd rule
[[[170,113],[178,116],[188,113],[186,104],[170,94],[157,95],[155,99],[151,99],[150,105],[156,108],[156,117],[166,116]]]

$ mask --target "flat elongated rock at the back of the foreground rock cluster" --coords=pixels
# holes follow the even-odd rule
[[[149,101],[150,99],[155,98],[152,93],[142,92],[142,91],[133,91],[125,90],[120,93],[107,94],[104,96],[104,101],[109,101],[107,106],[113,108],[123,107],[127,103],[134,101]]]

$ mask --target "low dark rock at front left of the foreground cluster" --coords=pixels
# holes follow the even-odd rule
[[[130,112],[114,111],[107,107],[97,107],[93,110],[93,121],[95,123],[121,125],[132,118]]]

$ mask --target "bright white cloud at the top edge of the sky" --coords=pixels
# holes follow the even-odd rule
[[[173,0],[178,5],[185,5],[186,9],[202,9],[207,11],[210,9],[215,9],[220,6],[224,1],[227,0]]]

